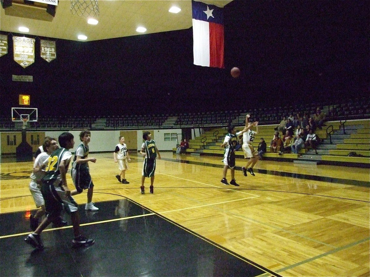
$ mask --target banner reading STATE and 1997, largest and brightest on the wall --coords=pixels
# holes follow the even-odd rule
[[[35,39],[13,37],[14,61],[23,68],[35,62]]]

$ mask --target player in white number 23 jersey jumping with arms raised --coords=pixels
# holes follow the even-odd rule
[[[254,147],[252,146],[252,142],[254,141],[255,135],[258,134],[258,122],[250,123],[249,120],[249,114],[245,117],[245,127],[252,126],[255,124],[256,131],[248,130],[243,134],[243,151],[244,151],[244,158],[249,159],[248,163],[245,167],[242,167],[242,171],[244,176],[247,176],[247,171],[249,171],[250,174],[255,176],[253,172],[253,167],[259,160],[258,153],[254,151]],[[250,167],[248,167],[250,165]]]

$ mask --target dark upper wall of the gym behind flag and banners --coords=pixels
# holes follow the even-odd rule
[[[233,1],[225,69],[192,64],[192,28],[111,40],[57,40],[57,59],[0,57],[1,114],[29,93],[39,114],[246,109],[369,95],[369,1]],[[26,37],[35,37],[26,35]],[[230,76],[238,66],[242,75]],[[34,82],[12,82],[11,75]]]

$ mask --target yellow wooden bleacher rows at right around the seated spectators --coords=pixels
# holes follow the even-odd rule
[[[260,138],[263,137],[266,144],[269,146],[274,134],[274,127],[276,125],[262,125],[259,127],[259,133],[255,136],[252,143],[253,147],[257,148]],[[343,128],[344,127],[344,128]],[[241,130],[243,126],[238,127]],[[343,130],[344,129],[344,130]],[[330,133],[330,131],[332,131]],[[214,128],[205,131],[201,136],[189,140],[189,149],[186,153],[198,153],[199,155],[223,155],[223,149],[220,145],[227,133],[226,128]],[[330,145],[330,148],[324,154],[320,154],[322,163],[325,164],[339,164],[339,165],[362,165],[369,167],[370,165],[370,121],[369,120],[351,120],[347,122],[333,121],[326,122],[326,126],[322,130],[315,132],[320,139]],[[343,135],[348,138],[332,139],[330,137]],[[344,134],[345,133],[345,134]],[[332,143],[330,143],[332,141]],[[343,141],[343,143],[336,143],[336,141]],[[326,149],[326,148],[323,148]],[[176,153],[176,148],[173,148],[173,153]],[[269,148],[268,148],[269,151]],[[320,150],[319,150],[320,151]],[[349,157],[350,152],[355,152],[362,157]],[[304,154],[314,155],[310,149],[302,149],[299,154],[282,154],[265,153],[265,158],[272,158],[275,160],[296,160],[300,155]],[[243,158],[243,151],[236,151],[237,158]]]

